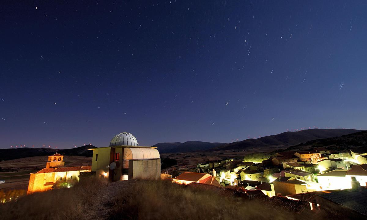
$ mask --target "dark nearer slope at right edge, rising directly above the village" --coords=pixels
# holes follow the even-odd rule
[[[367,151],[367,131],[343,135],[340,137],[330,137],[326,139],[311,140],[305,144],[288,147],[287,150],[298,148],[324,147],[329,150],[362,150]]]

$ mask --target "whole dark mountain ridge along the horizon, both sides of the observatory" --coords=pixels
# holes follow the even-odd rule
[[[355,135],[353,135],[355,133]],[[344,136],[343,136],[344,135]],[[233,143],[210,143],[201,141],[173,142],[173,143],[157,143],[153,147],[157,147],[159,153],[178,153],[190,152],[197,150],[206,151],[223,151],[223,150],[246,150],[255,147],[264,146],[284,146],[298,147],[302,146],[345,146],[345,147],[367,147],[367,131],[359,131],[356,129],[308,129],[298,132],[284,132],[278,135],[260,137],[258,139],[247,139]],[[6,148],[0,149],[0,161],[18,159],[24,157],[48,156],[56,152],[62,155],[76,155],[92,157],[93,151],[87,150],[94,148],[93,145],[85,145],[70,149],[54,149],[54,148]]]

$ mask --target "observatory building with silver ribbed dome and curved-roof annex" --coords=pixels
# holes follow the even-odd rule
[[[120,133],[109,147],[89,149],[93,151],[92,172],[110,181],[160,179],[160,157],[155,148],[138,146],[134,135]]]

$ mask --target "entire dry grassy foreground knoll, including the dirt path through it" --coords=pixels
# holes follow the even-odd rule
[[[1,219],[292,219],[252,201],[218,197],[169,181],[81,181],[0,206]]]

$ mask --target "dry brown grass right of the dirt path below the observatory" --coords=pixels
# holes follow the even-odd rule
[[[276,220],[291,216],[276,210],[264,212],[264,205],[254,201],[219,197],[170,181],[139,181],[129,191],[121,191],[113,202],[110,219]]]

